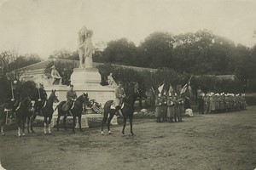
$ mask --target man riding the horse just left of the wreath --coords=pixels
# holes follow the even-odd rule
[[[67,97],[67,102],[62,106],[62,111],[68,111],[70,116],[73,116],[73,114],[70,110],[73,105],[73,102],[77,99],[77,94],[73,90],[73,84],[70,85],[70,90],[67,91],[66,97]]]

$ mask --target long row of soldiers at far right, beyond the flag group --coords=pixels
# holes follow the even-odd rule
[[[199,95],[198,110],[200,114],[245,110],[245,94],[203,94]]]

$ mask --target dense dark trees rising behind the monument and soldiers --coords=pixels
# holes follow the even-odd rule
[[[102,49],[102,46],[106,48]],[[78,52],[55,51],[49,58],[79,60]],[[98,43],[93,60],[100,63],[170,68],[178,73],[195,75],[236,75],[248,90],[256,90],[256,46],[248,48],[226,37],[202,30],[172,35],[155,31],[138,46],[126,38],[107,44]]]

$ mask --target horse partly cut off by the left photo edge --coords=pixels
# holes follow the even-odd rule
[[[2,136],[4,133],[4,126],[7,124],[9,117],[11,115],[11,102],[6,102],[0,105],[0,127]]]

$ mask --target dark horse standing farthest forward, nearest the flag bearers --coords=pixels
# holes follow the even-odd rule
[[[134,103],[137,98],[145,98],[147,99],[146,94],[143,93],[141,89],[134,89],[131,90],[131,94],[124,99],[124,107],[121,109],[123,116],[124,116],[124,126],[122,134],[125,135],[125,126],[127,118],[129,117],[130,120],[130,126],[131,126],[131,136],[134,136],[135,134],[132,131],[132,120],[133,120],[133,113],[134,113]],[[104,116],[102,119],[102,135],[103,133],[103,127],[106,122],[108,122],[108,134],[111,134],[110,131],[110,122],[114,116],[114,114],[117,112],[115,109],[111,109],[111,105],[113,104],[113,100],[108,100],[104,105]]]

